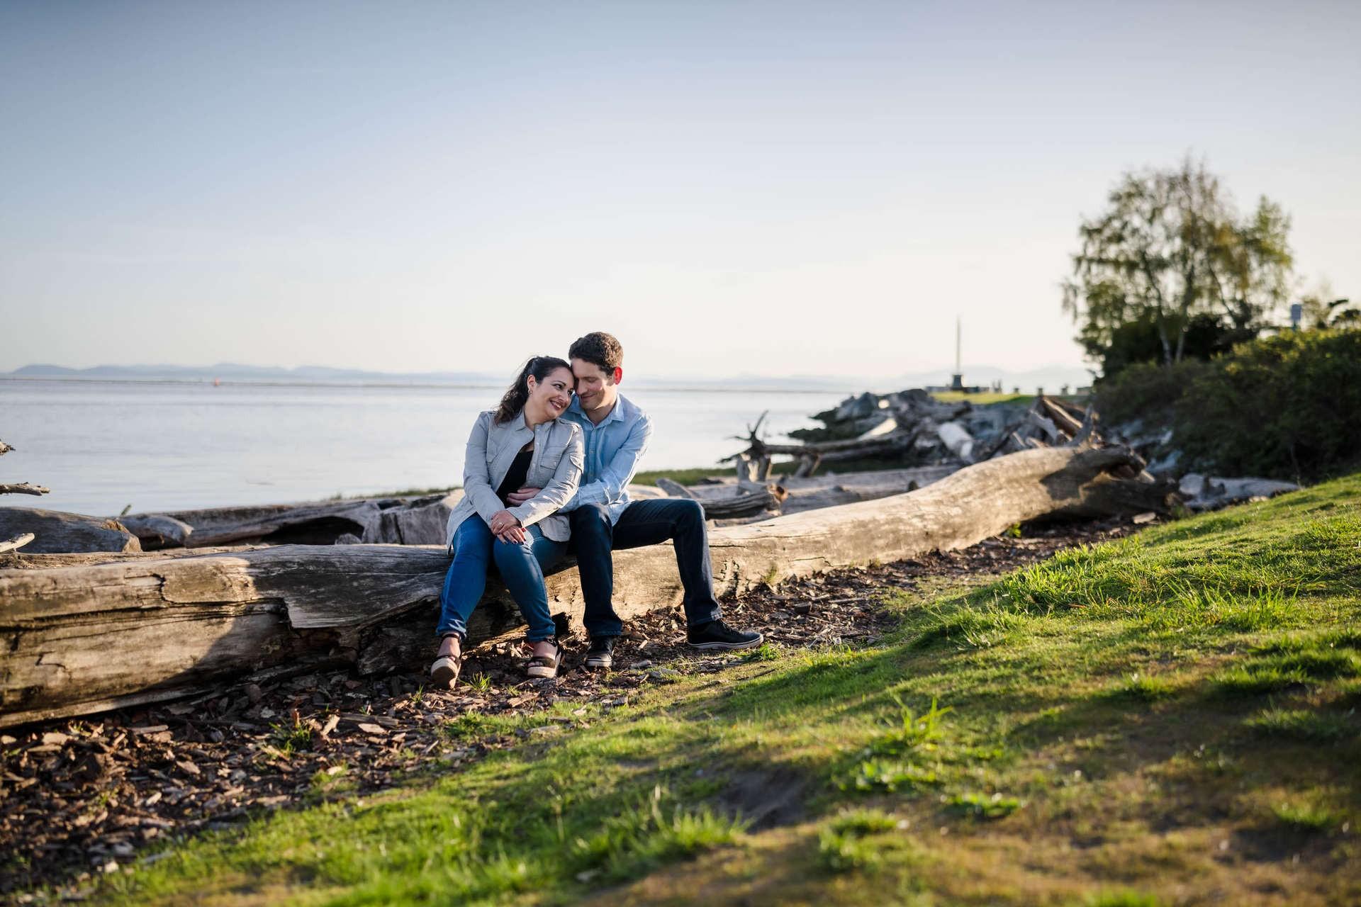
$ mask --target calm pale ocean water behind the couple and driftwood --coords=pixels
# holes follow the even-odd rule
[[[653,419],[644,469],[712,465],[769,409],[770,439],[840,392],[630,389]],[[461,484],[497,388],[0,379],[0,479],[50,495],[4,506],[112,515]]]

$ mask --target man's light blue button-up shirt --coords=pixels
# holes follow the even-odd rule
[[[581,504],[604,504],[610,524],[619,522],[619,514],[629,506],[629,483],[652,439],[652,420],[622,394],[599,426],[581,411],[577,397],[572,398],[572,405],[562,417],[581,426],[587,441],[581,485],[572,500],[562,506],[562,511],[576,510]]]

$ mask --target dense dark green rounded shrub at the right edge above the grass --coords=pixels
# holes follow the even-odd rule
[[[1361,330],[1263,337],[1213,366],[1175,407],[1185,465],[1298,481],[1361,460]]]

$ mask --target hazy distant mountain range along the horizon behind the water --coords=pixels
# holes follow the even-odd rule
[[[636,388],[709,388],[754,389],[754,390],[834,390],[879,392],[921,388],[927,385],[947,385],[950,367],[927,371],[904,373],[894,377],[833,377],[833,375],[734,375],[729,378],[698,378],[686,375],[645,377],[630,375],[629,383]],[[0,373],[5,378],[64,378],[83,381],[214,381],[256,382],[256,383],[378,383],[378,385],[485,385],[501,386],[504,374],[485,371],[365,371],[362,369],[331,369],[327,366],[299,366],[280,369],[271,366],[242,366],[223,362],[215,366],[93,366],[90,369],[69,369],[67,366],[31,364]],[[1049,366],[1026,371],[1009,371],[995,366],[966,369],[968,385],[991,385],[1002,382],[1003,390],[1021,388],[1034,390],[1047,388],[1057,390],[1063,385],[1079,388],[1092,383],[1086,369],[1072,366]]]

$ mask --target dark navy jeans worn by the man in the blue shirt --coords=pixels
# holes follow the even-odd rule
[[[570,549],[577,555],[581,594],[587,602],[585,626],[592,639],[623,632],[623,621],[614,613],[614,558],[610,552],[655,545],[667,538],[675,541],[686,623],[694,627],[723,616],[713,597],[709,533],[698,500],[634,500],[612,526],[603,504],[583,504],[569,515]]]

